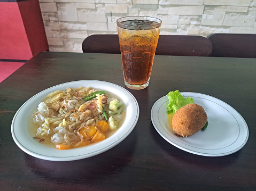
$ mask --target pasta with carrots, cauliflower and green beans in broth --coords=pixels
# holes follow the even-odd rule
[[[125,118],[123,107],[119,99],[90,87],[58,90],[47,95],[33,114],[35,138],[50,136],[59,149],[99,142],[117,130]]]

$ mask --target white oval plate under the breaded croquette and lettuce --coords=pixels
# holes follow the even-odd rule
[[[151,120],[157,132],[170,144],[189,153],[203,156],[224,156],[240,150],[247,142],[249,130],[243,117],[230,105],[212,96],[182,92],[185,98],[204,107],[208,127],[190,137],[177,137],[169,127],[166,106],[167,96],[152,106]]]

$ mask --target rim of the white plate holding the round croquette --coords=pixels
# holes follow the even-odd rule
[[[225,104],[226,106],[230,107],[230,109],[232,109],[232,111],[235,111],[235,112],[238,114],[239,118],[241,118],[241,120],[243,121],[243,123],[244,123],[244,125],[245,125],[245,130],[246,130],[246,137],[243,139],[244,141],[241,142],[241,144],[240,144],[238,147],[236,147],[234,150],[229,151],[229,152],[225,152],[225,153],[218,153],[218,154],[197,152],[197,151],[191,150],[191,149],[189,149],[189,148],[185,148],[185,147],[183,147],[183,146],[181,146],[181,145],[178,145],[178,144],[174,143],[172,140],[170,140],[168,137],[166,137],[164,134],[162,134],[162,132],[160,131],[160,129],[159,129],[159,128],[157,127],[157,125],[154,123],[153,110],[154,110],[154,108],[156,107],[156,105],[157,105],[160,101],[162,101],[162,99],[167,99],[167,101],[165,101],[164,103],[168,102],[168,98],[167,98],[166,95],[165,95],[165,96],[160,97],[160,98],[153,104],[153,106],[152,106],[152,108],[151,108],[151,121],[152,121],[152,124],[153,124],[154,128],[156,129],[156,131],[158,132],[158,134],[159,134],[162,138],[164,138],[168,143],[172,144],[173,146],[175,146],[175,147],[177,147],[177,148],[180,148],[180,149],[183,150],[183,151],[186,151],[186,152],[189,152],[189,153],[192,153],[192,154],[202,155],[202,156],[225,156],[225,155],[229,155],[229,154],[235,153],[235,152],[241,150],[241,148],[244,147],[244,145],[247,143],[247,140],[248,140],[248,138],[249,138],[249,128],[248,128],[248,126],[247,126],[246,121],[245,121],[244,118],[242,117],[242,115],[241,115],[238,111],[236,111],[236,110],[234,109],[234,107],[230,106],[230,105],[227,104],[226,102],[223,102],[221,99],[218,99],[218,98],[213,97],[213,96],[210,96],[210,95],[206,95],[206,94],[202,94],[202,93],[197,93],[197,92],[180,92],[180,93],[181,93],[182,95],[183,95],[183,94],[187,94],[187,95],[184,95],[184,96],[190,96],[190,94],[195,94],[195,95],[198,94],[198,95],[201,95],[201,96],[211,97],[212,99],[215,99],[216,101],[219,101],[219,102]],[[199,97],[199,98],[201,98],[201,97]],[[164,104],[164,103],[162,103],[162,104]],[[216,104],[218,104],[218,103],[216,103]],[[220,105],[220,104],[218,104],[218,105]],[[220,105],[220,106],[222,106],[222,105]],[[222,107],[223,107],[223,106],[222,106]],[[224,108],[224,107],[223,107],[223,108]],[[159,107],[159,109],[160,109],[160,107]],[[224,108],[224,109],[226,109],[226,108]],[[234,118],[235,118],[235,117],[234,117]],[[236,119],[236,118],[235,118],[235,119]],[[237,121],[237,119],[236,119],[236,121]],[[161,129],[162,129],[162,130],[165,130],[164,128],[161,128]],[[240,129],[239,129],[239,131],[240,131]],[[239,136],[238,136],[238,137],[239,137]],[[238,139],[238,138],[237,138],[237,139]],[[235,142],[237,141],[237,139],[235,140]],[[182,143],[182,144],[183,144],[183,143]],[[192,146],[191,146],[191,147],[192,147]],[[207,150],[206,148],[200,148],[200,149],[201,149],[201,150]],[[218,150],[218,149],[216,149],[216,150]]]

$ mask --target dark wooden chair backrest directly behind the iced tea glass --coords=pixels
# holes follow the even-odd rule
[[[120,54],[118,35],[91,35],[82,43],[83,52]],[[156,55],[209,56],[211,41],[201,36],[160,35]]]

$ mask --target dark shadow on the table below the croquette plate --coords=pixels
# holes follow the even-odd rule
[[[183,165],[184,167],[194,166],[196,168],[206,168],[206,169],[216,169],[225,168],[236,162],[239,151],[226,156],[201,156],[192,154],[181,150],[168,143],[164,138],[162,138],[156,129],[154,129],[153,124],[151,126],[152,139],[161,148],[161,152],[164,152],[166,160],[169,162]]]

